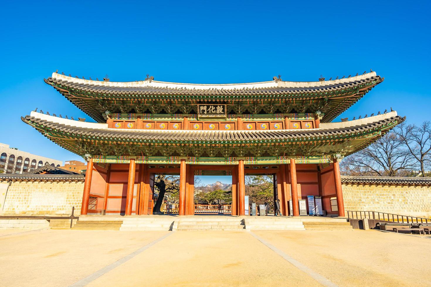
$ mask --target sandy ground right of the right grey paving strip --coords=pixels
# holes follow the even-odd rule
[[[431,239],[381,232],[254,231],[339,286],[431,286]]]

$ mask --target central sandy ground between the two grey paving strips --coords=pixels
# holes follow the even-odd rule
[[[247,232],[177,231],[89,286],[277,286],[282,282],[319,285]]]

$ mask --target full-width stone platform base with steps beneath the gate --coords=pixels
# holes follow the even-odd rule
[[[112,222],[119,225],[115,226],[115,230],[120,231],[351,229],[345,218],[312,216],[86,215],[79,217],[78,225],[85,226],[87,230],[108,230]],[[78,225],[73,229],[84,229],[78,228]]]

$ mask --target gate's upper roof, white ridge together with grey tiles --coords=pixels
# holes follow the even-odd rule
[[[356,87],[383,78],[368,73],[351,78],[319,82],[269,81],[242,84],[187,84],[158,81],[103,82],[53,74],[44,79],[47,84],[109,95],[280,95],[323,93]]]

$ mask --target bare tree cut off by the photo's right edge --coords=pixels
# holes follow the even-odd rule
[[[429,176],[425,168],[431,166],[431,127],[430,122],[425,121],[421,126],[401,123],[394,129],[398,140],[408,148],[410,154],[417,160],[422,176]]]

